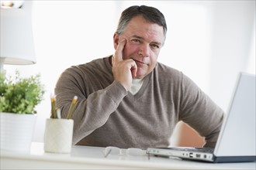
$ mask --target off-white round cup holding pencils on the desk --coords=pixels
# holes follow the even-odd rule
[[[73,138],[72,119],[47,119],[44,131],[44,151],[70,153]]]

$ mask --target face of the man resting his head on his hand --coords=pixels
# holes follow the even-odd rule
[[[147,76],[157,63],[157,57],[164,43],[164,29],[155,23],[147,22],[142,16],[130,20],[121,35],[114,35],[114,47],[126,39],[123,59],[133,59],[137,64],[137,79]]]

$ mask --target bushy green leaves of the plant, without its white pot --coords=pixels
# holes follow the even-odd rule
[[[45,93],[40,74],[21,78],[19,71],[14,77],[0,76],[0,112],[36,114],[34,108],[43,100]]]

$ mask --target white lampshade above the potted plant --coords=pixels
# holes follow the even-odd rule
[[[31,19],[32,3],[23,1],[19,8],[4,8],[1,4],[1,71],[4,64],[36,63]]]

